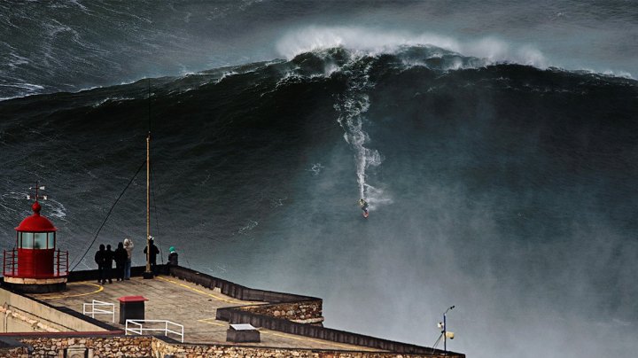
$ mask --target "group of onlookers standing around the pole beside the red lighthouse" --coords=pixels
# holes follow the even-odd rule
[[[153,274],[157,275],[157,255],[159,249],[154,244],[152,238],[149,239],[149,244],[151,252],[148,255],[149,261],[151,262],[151,269]],[[117,281],[130,280],[133,246],[133,241],[128,237],[125,238],[123,242],[118,243],[118,247],[115,251],[111,250],[111,245],[99,245],[99,250],[97,250],[95,255],[99,275],[97,283],[105,284],[106,281],[108,281],[109,284],[113,284],[113,261],[115,262],[115,279]],[[168,254],[168,264],[178,266],[175,247],[171,246],[168,251],[170,252]],[[146,252],[147,247],[144,246],[144,254],[146,254]]]

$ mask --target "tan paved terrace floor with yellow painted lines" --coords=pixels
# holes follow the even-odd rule
[[[81,281],[67,284],[66,292],[29,294],[52,306],[67,307],[82,314],[84,303],[99,300],[115,305],[115,315],[95,315],[99,321],[124,331],[119,323],[120,301],[124,296],[144,296],[144,318],[147,320],[167,320],[182,324],[184,343],[231,344],[226,342],[229,323],[215,319],[216,310],[222,307],[261,305],[268,302],[237,300],[216,290],[180,280],[174,276],[156,276],[144,279],[136,276],[127,281],[113,281],[113,284],[99,284],[96,281]],[[163,324],[162,324],[163,327]],[[294,334],[260,328],[260,343],[244,343],[246,346],[269,346],[309,349],[334,349],[340,351],[382,352],[366,346],[354,346],[323,339],[312,339]],[[180,337],[169,334],[180,340]]]

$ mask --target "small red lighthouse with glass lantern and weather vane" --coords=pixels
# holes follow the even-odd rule
[[[4,250],[4,285],[19,292],[58,292],[66,289],[68,276],[68,252],[56,248],[55,226],[40,214],[35,186],[33,214],[19,223],[16,244],[12,250]],[[29,198],[29,197],[27,197]]]

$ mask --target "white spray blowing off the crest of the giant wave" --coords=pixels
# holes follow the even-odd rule
[[[486,59],[487,63],[515,62],[546,68],[547,60],[532,45],[513,46],[494,36],[471,41],[459,41],[447,35],[414,34],[407,31],[387,31],[367,27],[305,27],[292,30],[282,37],[276,48],[286,58],[300,53],[343,47],[369,55],[393,53],[404,46],[436,46],[463,56]]]

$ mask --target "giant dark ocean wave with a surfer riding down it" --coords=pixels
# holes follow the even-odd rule
[[[541,341],[514,331],[546,330],[543,349],[597,334],[631,351],[633,339],[604,324],[613,317],[626,334],[638,324],[627,284],[637,95],[631,79],[407,43],[5,100],[0,241],[12,247],[26,188],[40,180],[61,248],[72,261],[95,250],[150,127],[152,231],[185,265],[301,287],[325,298],[329,323],[391,339],[431,345],[436,329],[413,334],[414,312],[437,320],[452,303],[464,317],[457,351],[507,341],[508,355],[525,355]],[[144,198],[137,177],[97,243],[140,243]],[[353,301],[356,317],[343,308]]]

